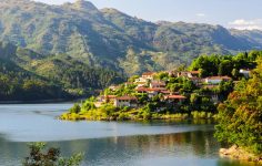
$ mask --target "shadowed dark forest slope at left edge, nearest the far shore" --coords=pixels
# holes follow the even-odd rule
[[[54,82],[0,60],[0,101],[51,100],[69,96]]]

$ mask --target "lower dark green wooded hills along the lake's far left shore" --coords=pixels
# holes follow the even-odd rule
[[[122,81],[117,72],[90,68],[71,56],[44,56],[0,42],[0,101],[87,96]]]

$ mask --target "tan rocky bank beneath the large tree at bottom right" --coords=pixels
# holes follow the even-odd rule
[[[229,148],[220,148],[219,153],[221,157],[262,165],[262,155],[255,155],[255,154],[249,153],[236,145],[233,145]]]

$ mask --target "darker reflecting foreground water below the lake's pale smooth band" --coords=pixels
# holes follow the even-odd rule
[[[49,145],[61,147],[63,155],[84,152],[83,165],[90,166],[246,165],[219,158],[220,145],[213,138],[212,131],[52,142]],[[0,139],[0,163],[6,166],[19,165],[21,158],[28,153],[26,143],[10,143]]]

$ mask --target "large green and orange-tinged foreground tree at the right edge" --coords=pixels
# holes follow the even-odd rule
[[[262,59],[258,59],[258,66],[250,80],[242,80],[218,107],[215,137],[236,145],[238,149],[254,154],[250,160],[262,157]],[[225,151],[226,152],[226,151]],[[243,158],[244,155],[229,155]],[[243,153],[242,153],[243,154]]]

